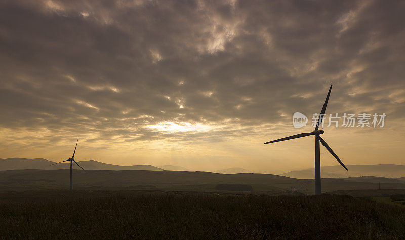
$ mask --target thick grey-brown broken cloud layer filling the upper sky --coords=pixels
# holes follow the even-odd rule
[[[318,111],[332,82],[339,113],[403,117],[400,1],[0,5],[4,129],[79,132],[88,142],[223,141]],[[148,127],[165,121],[212,129]]]

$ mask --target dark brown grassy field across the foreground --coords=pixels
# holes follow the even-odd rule
[[[351,196],[2,192],[2,238],[351,238],[405,235],[405,207]]]

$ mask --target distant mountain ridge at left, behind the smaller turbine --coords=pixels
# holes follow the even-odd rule
[[[1,170],[17,170],[17,169],[66,169],[70,168],[70,163],[60,163],[52,165],[55,162],[49,161],[43,158],[26,159],[26,158],[8,158],[0,159],[0,171]],[[86,170],[150,170],[150,171],[162,171],[163,169],[157,168],[152,165],[131,165],[121,166],[114,164],[101,163],[94,160],[77,161],[77,163]],[[73,165],[74,169],[80,169],[77,165]]]

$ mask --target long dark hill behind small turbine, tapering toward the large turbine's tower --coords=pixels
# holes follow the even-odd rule
[[[308,181],[308,180],[304,180]],[[301,182],[271,174],[219,174],[210,172],[146,171],[146,170],[73,170],[76,187],[154,186],[158,188],[214,189],[216,184],[267,185],[267,189],[290,187]],[[2,188],[60,188],[69,184],[69,169],[0,171]],[[271,185],[271,186],[270,186]],[[269,187],[270,186],[270,187]]]

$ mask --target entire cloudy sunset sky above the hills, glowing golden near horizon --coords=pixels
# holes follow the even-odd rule
[[[325,126],[343,163],[405,164],[404,10],[403,1],[1,1],[0,158],[62,161],[79,136],[76,161],[311,168],[313,136],[263,143],[313,131],[333,84],[327,114],[386,115],[383,127]],[[306,126],[294,128],[295,112]],[[323,147],[321,165],[338,165]]]

